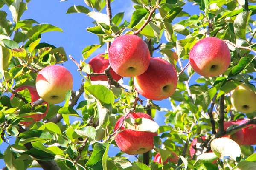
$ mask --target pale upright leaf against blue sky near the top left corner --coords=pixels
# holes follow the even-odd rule
[[[9,9],[12,13],[12,18],[15,23],[17,23],[20,20],[21,15],[23,12],[27,9],[26,4],[23,3],[23,0],[15,0],[10,6]]]

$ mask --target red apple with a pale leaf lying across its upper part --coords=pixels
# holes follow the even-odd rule
[[[148,114],[140,113],[140,112],[128,114],[127,118],[128,117],[131,117],[133,119],[137,119],[141,117],[141,118],[153,120],[153,118]],[[124,119],[124,116],[118,119],[115,125],[115,129],[114,129],[115,131],[122,124],[123,119]],[[125,125],[122,126],[122,130],[124,128],[125,128]],[[127,153],[129,155],[137,155],[137,154],[145,153],[154,147],[153,136],[157,136],[157,133],[126,129],[116,135],[115,141],[117,146],[124,153]]]

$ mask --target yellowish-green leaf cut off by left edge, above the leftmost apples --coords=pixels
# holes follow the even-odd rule
[[[0,72],[3,74],[9,67],[12,59],[12,51],[0,45]]]

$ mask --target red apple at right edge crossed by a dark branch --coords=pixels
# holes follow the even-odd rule
[[[224,130],[227,130],[231,125],[242,125],[248,122],[250,119],[239,119],[230,122],[224,122]],[[253,126],[249,128],[250,126]],[[226,135],[224,137],[228,137],[235,141],[239,145],[256,145],[256,137],[253,135],[256,134],[256,125],[250,124],[246,127],[238,130],[232,135]]]

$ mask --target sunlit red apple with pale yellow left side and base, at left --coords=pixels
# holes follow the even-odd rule
[[[73,77],[63,66],[49,65],[39,71],[35,86],[44,101],[58,104],[65,100],[67,91],[72,90]]]

